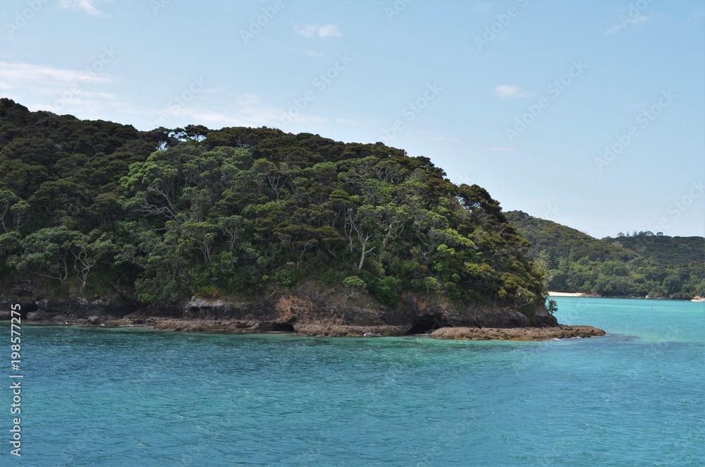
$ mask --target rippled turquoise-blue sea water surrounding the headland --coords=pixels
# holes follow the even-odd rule
[[[0,465],[705,465],[705,303],[556,301],[560,322],[611,335],[25,325],[23,455],[9,454],[11,394],[0,389]]]

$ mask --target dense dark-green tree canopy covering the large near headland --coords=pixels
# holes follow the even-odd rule
[[[544,305],[529,243],[427,157],[272,128],[140,132],[0,99],[0,279],[141,303],[317,284]]]

